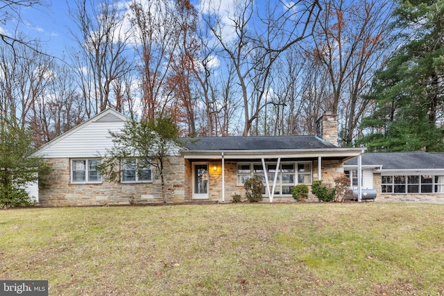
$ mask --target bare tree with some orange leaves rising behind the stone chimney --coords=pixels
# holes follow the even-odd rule
[[[387,47],[392,1],[322,1],[320,26],[314,34],[314,58],[329,74],[331,110],[339,113],[341,141],[350,145],[368,102],[361,100]],[[386,44],[385,44],[386,45]]]

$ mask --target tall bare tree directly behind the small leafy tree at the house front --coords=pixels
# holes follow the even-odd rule
[[[133,0],[130,4],[131,23],[139,53],[139,74],[142,87],[142,117],[153,120],[169,103],[169,91],[164,89],[171,71],[173,53],[178,46],[178,28],[173,3],[167,0]]]

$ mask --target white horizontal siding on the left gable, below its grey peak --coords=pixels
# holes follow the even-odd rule
[[[106,154],[106,148],[112,147],[110,131],[119,132],[124,122],[92,122],[78,130],[74,130],[67,137],[49,143],[49,146],[40,150],[45,158],[74,158],[99,157]]]

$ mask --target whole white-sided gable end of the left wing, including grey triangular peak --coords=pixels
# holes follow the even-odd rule
[[[97,157],[112,146],[110,130],[123,128],[128,117],[110,108],[92,116],[37,150],[43,157]]]

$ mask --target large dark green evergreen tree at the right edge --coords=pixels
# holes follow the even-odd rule
[[[367,98],[376,110],[358,143],[370,151],[443,150],[444,0],[402,0],[395,15],[407,42],[375,75]]]

